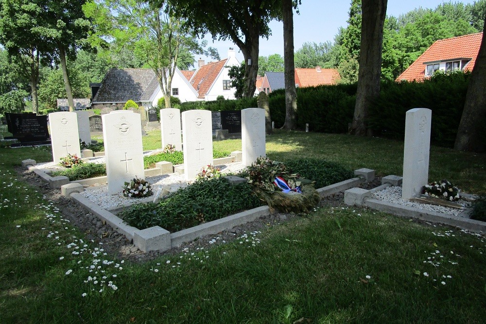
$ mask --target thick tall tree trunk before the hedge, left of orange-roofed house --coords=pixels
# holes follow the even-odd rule
[[[382,71],[383,24],[387,0],[363,0],[361,23],[361,49],[358,71],[356,105],[349,134],[371,135],[367,129],[368,110],[380,96]]]

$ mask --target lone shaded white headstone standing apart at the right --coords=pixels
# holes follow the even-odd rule
[[[420,193],[429,180],[430,127],[432,110],[414,108],[405,118],[402,199]]]

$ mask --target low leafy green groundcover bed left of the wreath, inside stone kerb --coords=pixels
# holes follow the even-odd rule
[[[214,178],[198,180],[157,204],[133,205],[120,216],[139,229],[160,226],[174,233],[260,205],[249,185]]]

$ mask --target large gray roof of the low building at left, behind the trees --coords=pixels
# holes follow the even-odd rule
[[[140,97],[154,78],[150,68],[112,68],[104,76],[102,86],[93,98],[97,102],[140,102]]]

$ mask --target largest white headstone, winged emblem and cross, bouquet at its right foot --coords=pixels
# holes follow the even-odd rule
[[[108,192],[120,192],[125,181],[145,179],[140,114],[116,110],[101,119]]]

